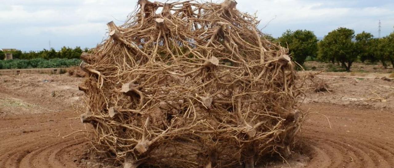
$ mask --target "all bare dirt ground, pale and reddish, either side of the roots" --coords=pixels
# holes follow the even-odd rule
[[[259,167],[394,167],[394,82],[376,74],[319,77],[332,91],[306,91],[302,108],[315,114],[297,136],[295,152],[287,162]],[[87,154],[92,149],[84,131],[90,125],[81,124],[74,112],[83,95],[77,87],[82,80],[0,76],[0,167],[119,167]]]

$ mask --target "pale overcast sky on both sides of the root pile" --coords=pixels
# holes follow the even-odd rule
[[[120,25],[137,0],[0,0],[0,48],[22,51],[62,46],[95,47],[106,23]],[[163,2],[163,1],[162,1]],[[220,1],[218,1],[220,2]],[[308,29],[323,37],[338,27],[382,36],[394,28],[394,0],[238,0],[240,11],[256,13],[264,33]]]

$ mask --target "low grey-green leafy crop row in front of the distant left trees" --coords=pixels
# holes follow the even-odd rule
[[[34,58],[30,60],[0,60],[0,69],[27,69],[27,68],[67,68],[78,66],[80,59],[53,58],[46,60],[44,58]]]

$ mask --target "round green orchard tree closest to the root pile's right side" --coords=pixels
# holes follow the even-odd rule
[[[287,45],[293,60],[303,65],[307,57],[316,58],[318,51],[318,39],[313,31],[287,30],[278,38],[282,46]]]

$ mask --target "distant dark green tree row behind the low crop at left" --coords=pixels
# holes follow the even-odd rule
[[[44,58],[44,59],[52,59],[52,58],[79,58],[82,52],[87,52],[89,49],[81,49],[81,47],[62,47],[60,51],[56,51],[54,48],[50,50],[43,49],[42,51],[29,51],[22,52],[20,50],[16,50],[12,52],[13,59],[35,59],[35,58]],[[0,51],[0,60],[4,59],[4,53]]]

